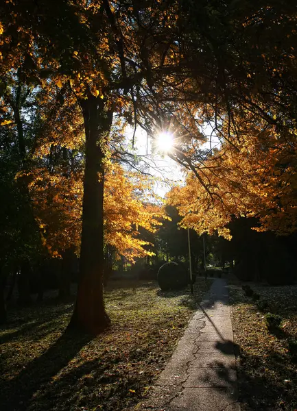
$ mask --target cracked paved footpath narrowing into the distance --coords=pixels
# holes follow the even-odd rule
[[[240,411],[225,279],[214,280],[149,399],[136,409]]]

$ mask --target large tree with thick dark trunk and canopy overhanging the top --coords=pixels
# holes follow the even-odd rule
[[[282,138],[296,128],[291,97],[295,62],[290,57],[294,6],[15,0],[3,11],[1,74],[21,67],[27,84],[68,88],[84,116],[81,275],[72,323],[96,334],[108,324],[97,273],[104,258],[104,157],[112,120],[121,116],[150,134],[156,127],[175,127],[181,145],[172,157],[211,192],[199,151],[204,121],[213,121],[218,134],[226,124],[222,138],[230,145],[239,139],[237,112],[241,123],[247,112],[278,127]],[[270,38],[281,34],[285,42],[274,49],[264,32]],[[259,34],[259,46],[250,47],[257,45]]]

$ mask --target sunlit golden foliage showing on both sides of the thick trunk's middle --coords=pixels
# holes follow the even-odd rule
[[[63,175],[60,169],[32,171],[29,190],[34,201],[34,213],[39,223],[43,245],[52,256],[75,246],[80,250],[82,221],[82,173]],[[155,232],[163,212],[147,198],[147,178],[125,171],[110,162],[106,171],[104,195],[104,241],[118,255],[134,261],[136,257],[150,256],[139,237],[139,227]]]

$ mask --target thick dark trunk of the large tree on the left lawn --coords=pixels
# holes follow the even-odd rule
[[[112,124],[112,112],[93,96],[80,101],[86,132],[86,164],[82,204],[82,243],[78,297],[69,327],[93,335],[105,329],[110,320],[104,308],[104,151]]]

